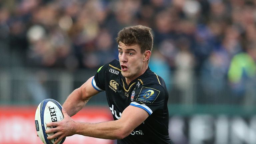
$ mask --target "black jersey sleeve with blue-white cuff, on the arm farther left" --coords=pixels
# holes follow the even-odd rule
[[[92,79],[92,86],[97,91],[105,91],[104,83],[105,83],[105,71],[107,69],[107,66],[108,64],[101,66]]]

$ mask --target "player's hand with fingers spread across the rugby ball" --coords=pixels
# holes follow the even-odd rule
[[[57,144],[64,137],[72,136],[75,134],[75,121],[67,114],[64,109],[62,109],[62,113],[64,116],[62,121],[51,122],[46,125],[47,127],[56,126],[55,128],[51,128],[45,131],[46,133],[56,132],[54,135],[47,137],[47,139],[59,137],[54,142],[54,144]]]

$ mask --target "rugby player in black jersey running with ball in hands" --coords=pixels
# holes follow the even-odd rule
[[[75,89],[63,104],[64,119],[48,123],[57,126],[48,139],[80,134],[117,139],[118,144],[171,144],[168,133],[168,92],[164,80],[152,72],[149,59],[153,48],[151,28],[137,25],[123,28],[116,38],[119,60],[100,67],[95,76]],[[105,91],[113,121],[76,122],[70,116],[89,99]]]

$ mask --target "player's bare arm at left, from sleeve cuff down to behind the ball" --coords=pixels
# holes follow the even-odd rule
[[[93,76],[94,77],[94,76]],[[99,93],[93,86],[93,77],[89,78],[83,85],[75,89],[62,105],[69,116],[75,115],[80,111],[89,99]]]

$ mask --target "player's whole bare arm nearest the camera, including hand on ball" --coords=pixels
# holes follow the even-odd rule
[[[74,134],[102,139],[123,139],[145,121],[149,113],[142,108],[130,105],[123,111],[120,119],[101,123],[75,122],[65,110],[63,115],[64,120],[47,124],[47,126],[57,126],[46,130],[46,133],[56,132],[48,139],[59,137],[54,144],[57,144],[62,138]]]

